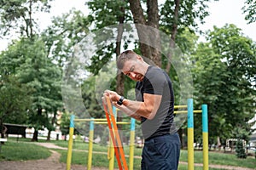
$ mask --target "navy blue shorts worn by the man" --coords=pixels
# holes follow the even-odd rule
[[[142,170],[177,170],[180,146],[177,133],[146,140],[143,147]]]

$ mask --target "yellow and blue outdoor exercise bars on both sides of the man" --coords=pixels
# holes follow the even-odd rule
[[[109,108],[111,108],[109,110]],[[201,105],[201,111],[194,111],[193,107],[193,99],[188,99],[187,105],[175,105],[174,109],[184,108],[187,111],[174,111],[174,114],[184,114],[187,113],[188,116],[188,169],[194,170],[194,113],[201,113],[202,114],[202,137],[203,137],[203,170],[208,170],[208,116],[207,116],[207,105]],[[104,107],[105,110],[105,107]],[[111,104],[108,104],[108,111],[111,113],[115,113],[115,107],[111,107]],[[106,113],[106,111],[105,111]],[[107,114],[107,113],[106,113]],[[113,114],[114,115],[114,114]],[[107,116],[107,115],[106,115]],[[108,116],[107,116],[108,117]],[[114,119],[111,119],[111,121]],[[90,137],[89,137],[89,153],[88,153],[88,164],[87,169],[91,169],[91,158],[92,158],[92,141],[93,141],[93,128],[94,124],[108,124],[107,119],[74,119],[72,115],[70,118],[70,128],[69,128],[69,136],[73,136],[73,128],[74,128],[74,121],[81,122],[81,121],[90,121]],[[109,120],[110,121],[110,120]],[[130,122],[116,122],[116,124],[131,124],[131,133],[130,133],[130,155],[129,155],[129,170],[133,169],[133,155],[134,155],[134,139],[135,139],[135,119],[131,118]],[[108,124],[109,126],[109,124]],[[113,127],[111,127],[112,130]],[[111,129],[109,128],[109,130]],[[118,133],[118,129],[116,128]],[[113,131],[112,131],[113,132]],[[114,132],[116,133],[116,132]],[[114,135],[113,133],[113,135]],[[111,134],[110,134],[111,135]],[[113,138],[111,138],[113,139]],[[67,170],[70,170],[71,167],[71,158],[72,158],[72,145],[73,145],[73,138],[69,138],[68,141],[68,150],[67,150]],[[119,144],[121,145],[121,144]],[[118,145],[118,146],[119,146]],[[113,145],[114,146],[114,145]],[[115,147],[112,147],[115,148]],[[117,152],[117,151],[115,151]],[[113,153],[113,151],[112,151]],[[116,158],[120,156],[120,153],[116,154]],[[112,156],[113,158],[113,156]],[[122,158],[122,157],[121,157]],[[123,162],[124,163],[124,162]],[[119,166],[121,165],[118,162]],[[114,160],[109,160],[109,170],[113,169]],[[127,166],[127,165],[126,165]],[[125,164],[124,164],[125,167]]]

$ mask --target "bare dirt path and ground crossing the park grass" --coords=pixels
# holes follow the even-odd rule
[[[62,148],[50,143],[38,143],[41,146],[47,147],[49,149],[61,149],[67,150],[67,148]],[[65,170],[66,163],[60,163],[61,154],[55,150],[50,150],[52,152],[51,156],[47,159],[35,160],[35,161],[0,161],[1,170]],[[187,164],[187,162],[180,161],[180,164]],[[196,167],[202,167],[201,163],[195,163]],[[245,167],[232,167],[232,166],[222,166],[222,165],[209,165],[209,167],[215,167],[218,169],[230,169],[230,170],[253,170]],[[71,165],[72,170],[85,170],[86,166],[81,165]],[[108,170],[106,167],[92,167],[93,170]],[[255,170],[255,169],[254,169]]]

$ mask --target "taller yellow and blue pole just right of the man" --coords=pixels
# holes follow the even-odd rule
[[[188,169],[194,170],[193,99],[188,99]]]

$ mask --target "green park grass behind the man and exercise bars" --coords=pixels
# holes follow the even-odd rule
[[[24,143],[26,142],[26,143]],[[45,140],[39,140],[39,142],[47,142]],[[48,141],[49,142],[49,141]],[[56,145],[67,148],[67,141],[50,141]],[[73,156],[72,164],[81,164],[86,166],[88,153],[88,144],[80,141],[75,141],[73,143]],[[125,153],[129,153],[129,146],[124,147]],[[61,153],[61,162],[67,161],[67,150],[56,150]],[[108,147],[106,145],[94,144],[93,151],[101,151],[106,154],[97,154],[94,153],[92,156],[92,166],[93,167],[108,167]],[[142,149],[135,148],[135,156],[141,156]],[[203,156],[202,151],[195,150],[194,154],[195,163],[202,163]],[[16,139],[9,139],[7,143],[2,145],[2,153],[0,154],[0,161],[20,161],[20,160],[34,160],[34,159],[44,159],[50,156],[48,149],[38,146],[30,142],[30,139],[19,139],[19,142],[16,142]],[[188,152],[187,150],[181,150],[180,161],[188,162],[187,159]],[[134,169],[140,169],[140,158],[134,159]],[[129,162],[129,158],[127,158]],[[237,159],[235,154],[224,154],[219,152],[209,152],[209,164],[218,164],[218,165],[228,165],[235,167],[256,167],[256,159],[253,156],[247,157],[247,159]],[[115,165],[115,167],[118,167]],[[179,170],[188,169],[187,165],[180,164]],[[195,167],[195,170],[200,170],[202,167]],[[217,168],[209,168],[211,170]],[[218,168],[219,169],[219,168]]]

